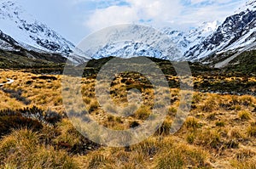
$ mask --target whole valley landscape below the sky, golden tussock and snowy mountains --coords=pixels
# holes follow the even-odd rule
[[[0,168],[256,168],[256,1],[189,31],[144,24],[108,27],[74,45],[19,1],[2,0]],[[112,60],[103,77],[113,79],[99,77]],[[115,71],[125,66],[150,78]],[[127,131],[160,120],[142,142],[123,143],[132,140]]]

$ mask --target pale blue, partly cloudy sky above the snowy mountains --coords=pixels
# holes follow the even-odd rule
[[[170,26],[188,31],[224,19],[246,0],[20,0],[37,20],[75,45],[105,27],[119,24]]]

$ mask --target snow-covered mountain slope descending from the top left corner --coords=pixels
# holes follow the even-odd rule
[[[18,2],[13,0],[0,2],[0,31],[2,34],[13,38],[15,45],[20,46],[20,48],[40,53],[61,54],[75,63],[84,61],[83,57],[74,56],[75,46],[72,42],[61,37],[47,25],[35,20],[32,15],[27,14],[22,9]],[[3,40],[3,37],[0,44],[2,49],[17,49]]]

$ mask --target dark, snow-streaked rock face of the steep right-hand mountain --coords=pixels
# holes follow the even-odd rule
[[[207,37],[201,44],[195,45],[185,53],[187,59],[197,59],[202,53],[207,53],[206,57],[229,48],[241,37],[247,35],[256,27],[256,11],[247,9],[240,14],[227,17],[224,23],[218,27],[212,35]],[[252,32],[245,42],[256,37],[256,32]],[[240,48],[239,46],[237,48]]]

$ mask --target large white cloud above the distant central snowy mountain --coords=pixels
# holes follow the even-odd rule
[[[126,3],[130,5],[96,9],[84,25],[93,31],[142,20],[151,25],[160,25],[175,20],[183,8],[178,0],[126,0]]]

